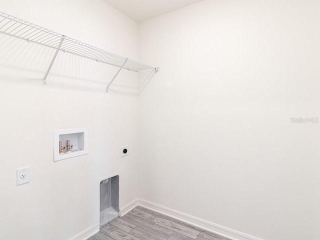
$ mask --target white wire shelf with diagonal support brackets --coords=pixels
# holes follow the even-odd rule
[[[50,65],[43,77],[43,84],[46,84],[46,77],[59,51],[68,52],[74,55],[119,67],[118,71],[106,86],[106,91],[108,91],[110,84],[122,68],[138,72],[139,74],[141,73],[139,75],[139,80],[141,77],[145,77],[145,80],[150,80],[159,70],[158,67],[152,67],[124,56],[100,49],[1,11],[0,33],[56,49]]]

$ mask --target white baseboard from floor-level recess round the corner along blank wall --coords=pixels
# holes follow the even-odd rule
[[[125,213],[133,209],[136,205],[143,206],[145,208],[148,208],[153,211],[157,211],[159,213],[162,213],[164,215],[171,216],[175,219],[184,221],[190,225],[202,228],[204,230],[216,233],[218,235],[224,236],[228,239],[232,240],[262,240],[258,237],[250,236],[248,234],[227,228],[225,226],[221,226],[218,224],[215,224],[210,221],[203,220],[201,218],[191,216],[189,214],[150,202],[143,199],[135,199],[134,201],[127,204],[125,207]],[[123,213],[123,215],[125,214]],[[122,215],[122,214],[121,214]]]

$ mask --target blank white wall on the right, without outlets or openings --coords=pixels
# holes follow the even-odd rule
[[[140,23],[140,60],[160,67],[139,98],[140,198],[319,239],[320,123],[290,123],[320,117],[319,7],[204,0]]]

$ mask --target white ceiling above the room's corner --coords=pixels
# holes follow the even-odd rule
[[[104,0],[136,22],[179,9],[201,0]]]

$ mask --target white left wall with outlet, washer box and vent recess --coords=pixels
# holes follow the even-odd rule
[[[2,0],[0,11],[138,57],[137,23],[101,0]],[[120,207],[137,197],[134,86],[120,74],[105,93],[114,69],[63,52],[42,85],[53,53],[0,35],[1,239],[67,240],[96,225],[99,178],[116,172]],[[78,127],[88,128],[88,154],[53,162],[53,130]],[[122,145],[130,154],[120,158]],[[31,181],[16,186],[23,166]]]

